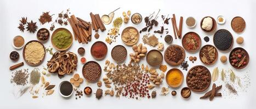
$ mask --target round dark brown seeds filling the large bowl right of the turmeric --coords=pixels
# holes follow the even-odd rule
[[[197,66],[189,72],[187,85],[195,90],[202,90],[211,83],[211,73],[206,67]]]

